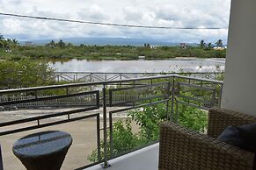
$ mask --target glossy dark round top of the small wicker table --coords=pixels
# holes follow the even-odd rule
[[[69,133],[64,131],[43,131],[19,138],[12,151],[19,157],[37,157],[60,152],[72,144]]]

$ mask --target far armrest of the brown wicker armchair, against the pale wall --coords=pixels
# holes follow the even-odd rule
[[[228,126],[240,126],[256,122],[256,117],[231,110],[212,108],[208,111],[208,136],[217,138]]]

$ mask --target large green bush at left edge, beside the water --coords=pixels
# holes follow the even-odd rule
[[[46,62],[28,59],[0,62],[0,89],[44,86],[54,82],[54,70]]]

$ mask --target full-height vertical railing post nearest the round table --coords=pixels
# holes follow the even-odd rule
[[[106,84],[103,85],[103,131],[104,131],[104,163],[103,168],[107,168],[110,165],[107,163],[107,131],[106,131]]]

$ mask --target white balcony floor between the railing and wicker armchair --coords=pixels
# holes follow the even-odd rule
[[[150,145],[119,158],[109,160],[110,167],[106,170],[157,170],[159,144]],[[91,166],[86,170],[102,170],[100,165]],[[84,169],[85,170],[85,169]]]

